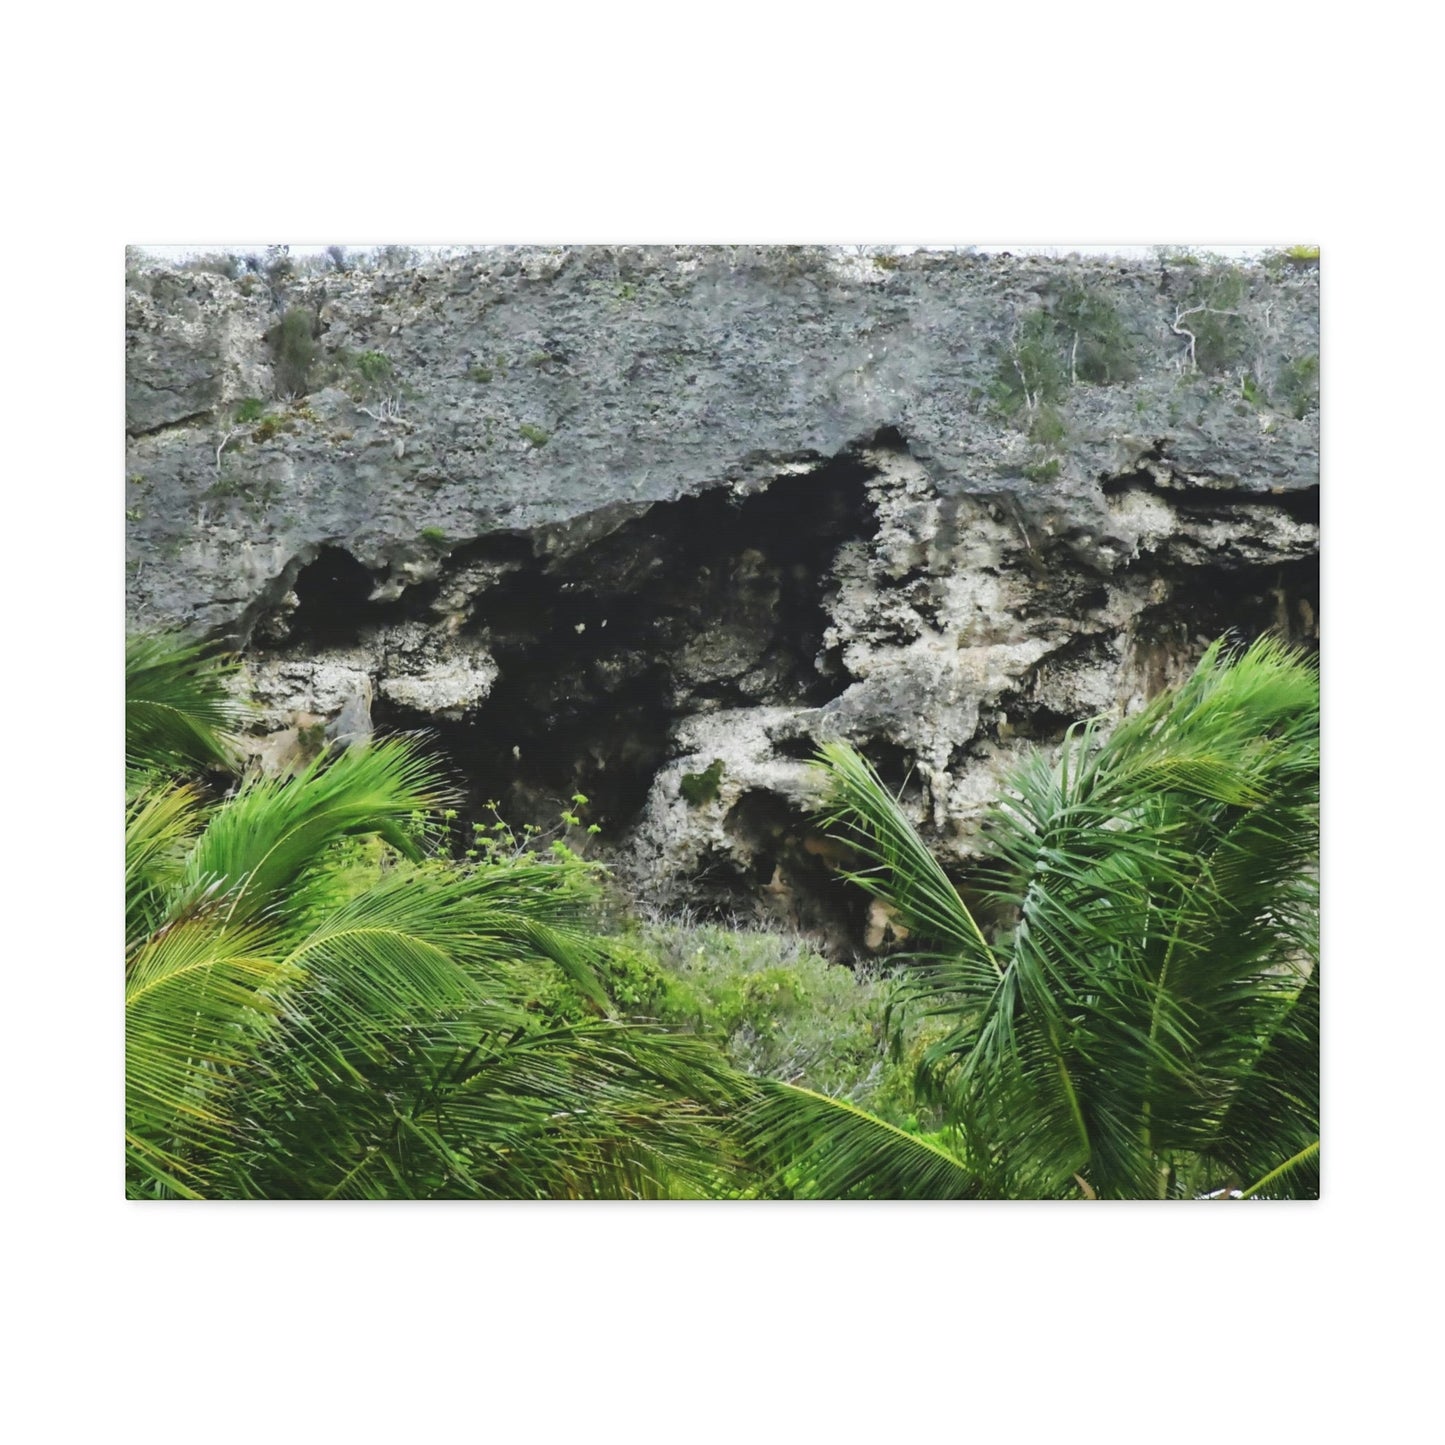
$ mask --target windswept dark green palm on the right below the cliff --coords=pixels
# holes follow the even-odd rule
[[[951,1025],[918,1082],[971,1176],[929,1165],[957,1195],[1318,1195],[1311,662],[1217,643],[1110,736],[1075,727],[1025,762],[983,831],[984,918],[853,749],[819,763],[853,880],[919,944],[903,1006]],[[870,1181],[876,1136],[835,1103],[775,1090],[754,1147],[805,1149],[854,1192],[936,1188],[896,1157]]]

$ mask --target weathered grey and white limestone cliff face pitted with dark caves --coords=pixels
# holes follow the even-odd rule
[[[244,650],[276,766],[374,686],[513,821],[587,793],[643,896],[861,942],[818,741],[964,861],[1020,747],[1228,629],[1318,636],[1318,295],[780,247],[133,269],[129,616]]]

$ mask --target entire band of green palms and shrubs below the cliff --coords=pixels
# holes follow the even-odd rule
[[[240,772],[224,660],[136,637],[126,678],[136,1198],[1318,1192],[1318,678],[1279,644],[1026,759],[987,916],[824,749],[848,876],[909,931],[871,972],[604,925],[582,795],[462,847],[415,740]]]

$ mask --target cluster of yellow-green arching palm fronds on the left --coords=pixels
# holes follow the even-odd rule
[[[555,1198],[712,1192],[743,1082],[607,1017],[584,870],[426,857],[448,801],[413,740],[217,801],[224,665],[127,646],[127,1192]],[[383,840],[380,863],[361,853]],[[539,1014],[562,970],[597,1016]]]

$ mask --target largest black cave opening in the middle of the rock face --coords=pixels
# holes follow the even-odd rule
[[[825,601],[838,548],[876,525],[870,475],[845,457],[751,496],[655,504],[575,552],[509,548],[467,624],[500,669],[491,695],[458,722],[379,699],[377,725],[434,730],[478,814],[496,801],[513,827],[548,828],[581,792],[620,838],[679,718],[835,694]],[[452,565],[496,559],[497,540]]]

